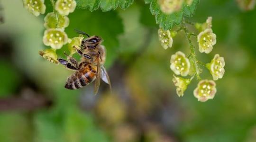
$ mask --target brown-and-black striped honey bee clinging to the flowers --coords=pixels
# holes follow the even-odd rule
[[[103,39],[100,36],[89,36],[85,32],[75,30],[77,33],[86,35],[88,38],[82,40],[80,49],[73,46],[76,52],[81,56],[80,62],[64,53],[67,61],[58,58],[58,62],[65,65],[68,69],[75,71],[66,80],[66,89],[80,89],[95,80],[94,94],[97,94],[101,79],[110,85],[109,75],[104,67],[106,52],[105,47],[101,45]]]

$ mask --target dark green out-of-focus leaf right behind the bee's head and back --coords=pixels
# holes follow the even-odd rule
[[[74,29],[82,30],[89,35],[99,35],[103,38],[103,45],[106,47],[107,58],[105,66],[108,68],[118,56],[119,41],[118,35],[123,33],[122,20],[115,11],[89,12],[85,9],[76,9],[69,15],[70,24],[65,32],[69,38],[78,36]]]

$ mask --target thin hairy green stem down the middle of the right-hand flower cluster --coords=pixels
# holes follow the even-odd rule
[[[191,52],[190,53],[190,58],[191,58],[192,62],[194,63],[195,69],[196,69],[195,75],[197,77],[197,80],[201,80],[200,70],[199,70],[200,68],[198,66],[198,60],[196,59],[196,54],[195,54],[195,46],[193,45],[192,40],[191,40],[191,36],[193,36],[195,34],[190,32],[188,30],[188,28],[185,26],[185,24],[182,25],[182,28],[183,28],[183,31],[185,32],[186,38],[189,42],[189,49],[190,49],[190,52]]]

